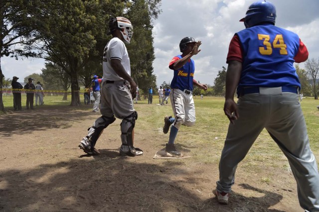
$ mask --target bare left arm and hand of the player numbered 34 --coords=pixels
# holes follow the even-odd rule
[[[236,87],[240,80],[240,74],[242,70],[242,63],[236,60],[231,60],[228,62],[227,72],[226,72],[226,94],[225,94],[225,104],[224,112],[232,124],[234,120],[239,117],[237,105],[234,101],[234,95]]]

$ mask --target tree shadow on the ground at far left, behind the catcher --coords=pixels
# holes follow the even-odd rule
[[[61,115],[65,114],[65,115]],[[68,128],[72,122],[82,121],[84,117],[91,115],[87,106],[45,106],[34,110],[22,110],[0,116],[0,133],[11,136],[14,133],[31,133],[36,130],[50,128]]]

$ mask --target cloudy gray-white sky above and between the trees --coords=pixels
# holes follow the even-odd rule
[[[192,57],[195,61],[194,79],[213,85],[218,71],[227,68],[228,46],[234,33],[245,28],[239,20],[255,0],[162,0],[159,18],[154,20],[154,74],[158,87],[171,82],[173,71],[169,61],[179,52],[183,37],[202,42],[201,51]],[[271,0],[276,6],[276,26],[299,35],[309,51],[309,59],[319,58],[319,0]],[[134,26],[134,23],[133,23]],[[134,30],[133,30],[134,31]],[[134,34],[132,39],[134,39]],[[24,77],[41,73],[42,59],[1,58],[5,78]],[[304,63],[300,64],[304,68]]]

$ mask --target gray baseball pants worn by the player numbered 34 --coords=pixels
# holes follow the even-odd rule
[[[229,193],[235,181],[237,164],[266,128],[287,157],[297,181],[300,205],[306,211],[319,211],[319,173],[309,146],[299,95],[248,94],[239,97],[239,118],[229,124],[219,163],[217,191]]]

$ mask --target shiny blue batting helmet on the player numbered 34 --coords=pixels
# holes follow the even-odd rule
[[[245,27],[249,28],[261,22],[270,22],[275,25],[276,7],[269,1],[256,1],[252,3],[246,12],[246,16],[239,21],[244,21]]]

